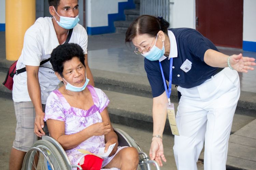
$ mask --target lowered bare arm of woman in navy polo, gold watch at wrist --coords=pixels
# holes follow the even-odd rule
[[[162,136],[163,130],[165,128],[166,116],[167,116],[167,106],[168,102],[166,93],[163,92],[162,95],[153,98],[153,135]],[[163,155],[163,144],[162,139],[158,137],[152,138],[151,148],[150,148],[150,158],[151,160],[156,160],[156,162],[162,166],[162,161],[166,162],[166,158]]]

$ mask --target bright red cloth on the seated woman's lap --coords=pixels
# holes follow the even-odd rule
[[[94,155],[85,155],[84,164],[80,165],[83,170],[100,170],[102,166],[103,159]],[[79,164],[78,164],[79,165]],[[79,169],[79,168],[77,168]]]

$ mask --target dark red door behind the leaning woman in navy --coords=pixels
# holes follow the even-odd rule
[[[196,0],[196,29],[216,46],[243,47],[243,0]]]

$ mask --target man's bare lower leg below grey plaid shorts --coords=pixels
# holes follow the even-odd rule
[[[9,170],[21,170],[23,159],[27,152],[19,151],[17,149],[12,148],[10,161],[9,161]]]

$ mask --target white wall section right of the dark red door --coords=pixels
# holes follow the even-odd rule
[[[243,41],[256,42],[256,0],[244,0]]]

